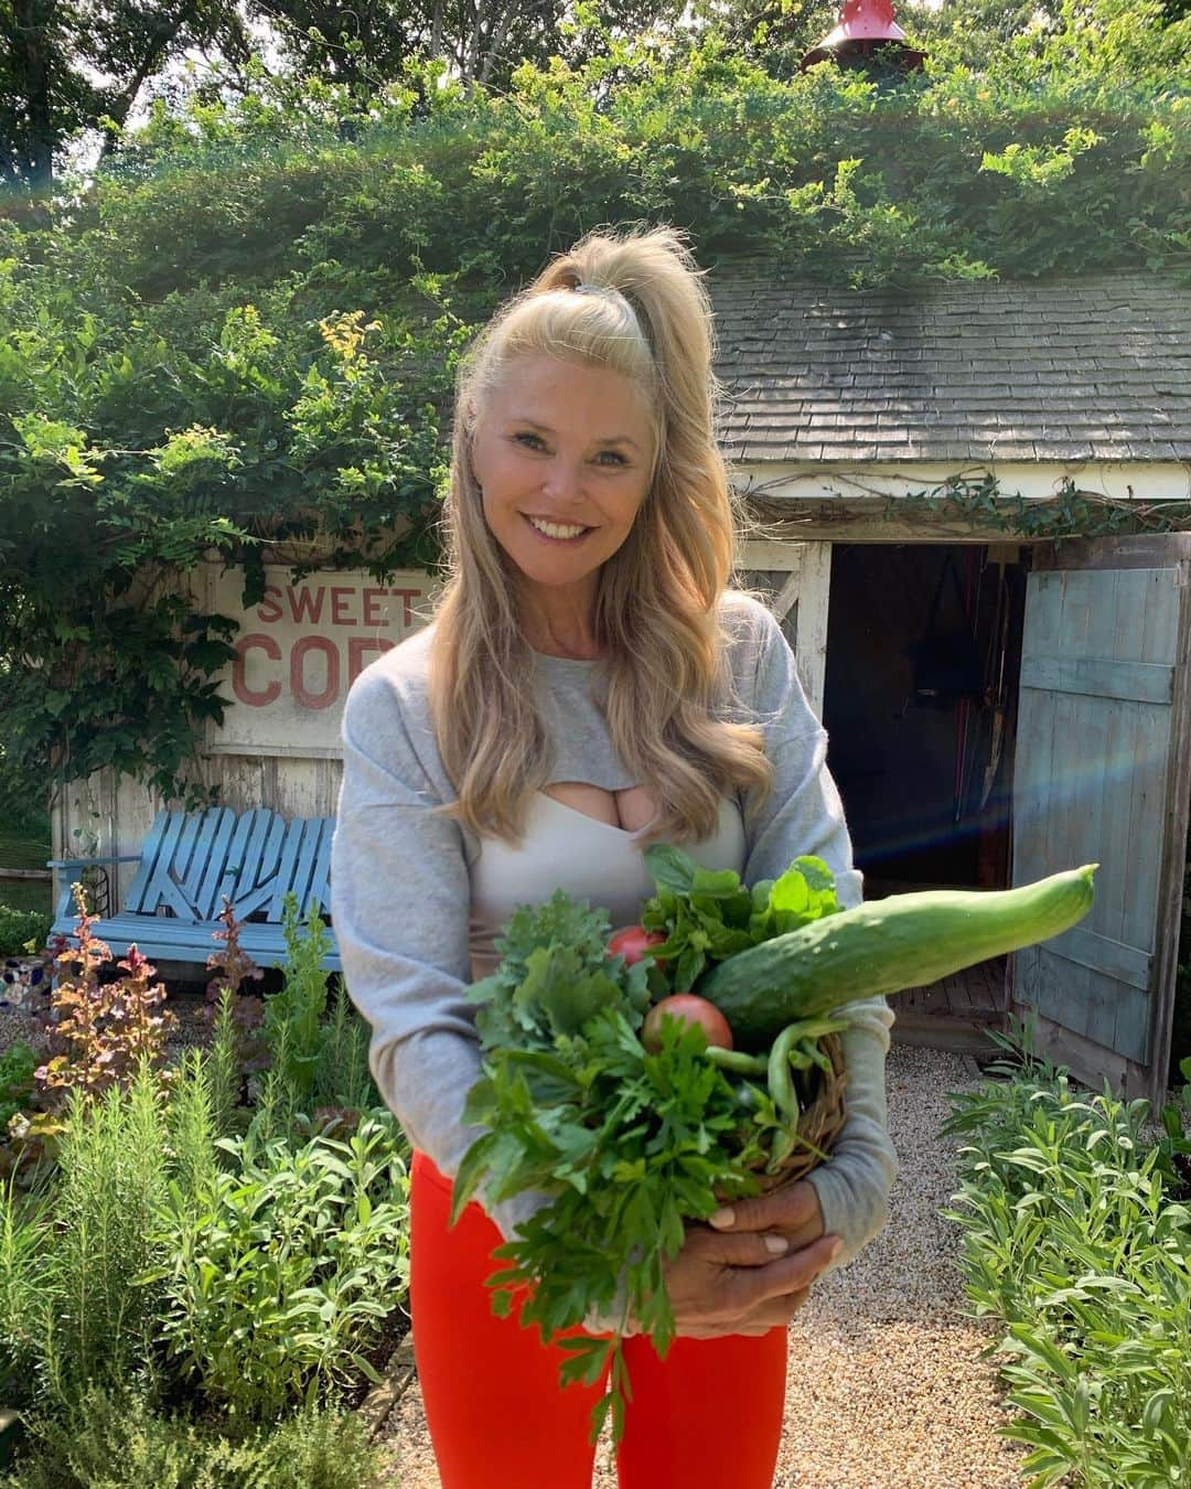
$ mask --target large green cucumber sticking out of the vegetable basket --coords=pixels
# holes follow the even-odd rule
[[[925,987],[1059,935],[1091,908],[1099,867],[1018,889],[926,889],[874,899],[738,951],[691,990],[721,1010],[737,1050],[764,1050],[798,1018]]]

